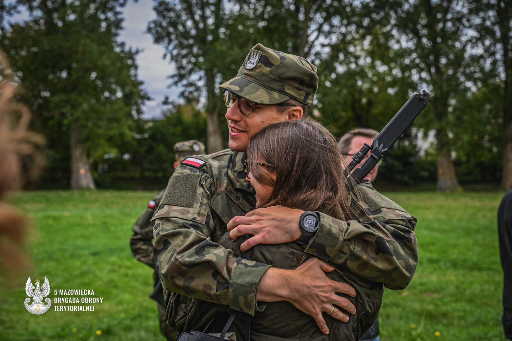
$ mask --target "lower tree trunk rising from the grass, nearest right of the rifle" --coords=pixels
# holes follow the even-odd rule
[[[437,132],[437,190],[458,191],[460,190],[455,166],[452,161],[449,138],[445,130]]]

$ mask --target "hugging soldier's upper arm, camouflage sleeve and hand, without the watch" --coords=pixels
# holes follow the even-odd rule
[[[362,278],[404,289],[418,264],[416,219],[370,184],[358,186],[361,200],[353,200],[356,220],[343,221],[320,215],[320,226],[306,253],[348,268]],[[304,211],[275,206],[252,211],[228,224],[231,238],[251,233],[256,244],[282,244],[301,236],[298,221]]]

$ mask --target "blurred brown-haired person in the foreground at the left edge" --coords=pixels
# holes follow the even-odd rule
[[[13,100],[16,82],[5,54],[0,51],[0,273],[2,280],[20,279],[31,269],[25,251],[28,219],[7,204],[9,191],[34,179],[44,159],[37,147],[44,139],[28,131],[28,108]]]

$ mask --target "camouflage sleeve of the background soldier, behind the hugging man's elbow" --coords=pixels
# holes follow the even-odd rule
[[[133,236],[130,239],[133,257],[136,260],[155,268],[153,260],[153,227],[151,222],[156,208],[160,205],[165,190],[162,190],[155,199],[150,202],[149,207],[132,227]]]

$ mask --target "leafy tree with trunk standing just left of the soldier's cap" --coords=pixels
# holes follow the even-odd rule
[[[207,150],[214,153],[224,148],[219,114],[224,104],[219,86],[238,71],[247,48],[234,26],[238,5],[217,0],[155,0],[157,19],[148,26],[156,44],[166,49],[176,66],[170,75],[173,84],[184,88],[183,97],[201,99],[206,95],[208,118]],[[245,26],[244,26],[245,27]]]

